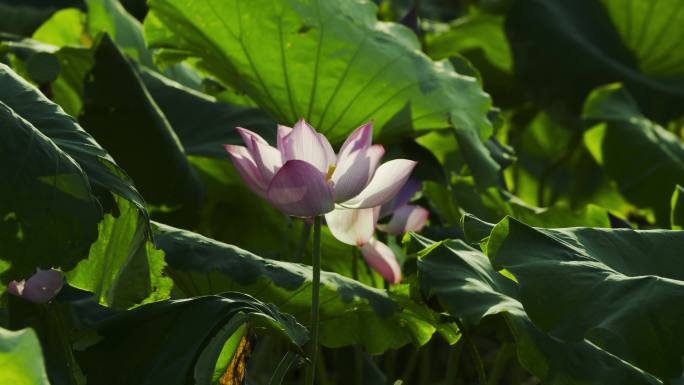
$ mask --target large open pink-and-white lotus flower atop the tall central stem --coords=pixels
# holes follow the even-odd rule
[[[395,159],[378,167],[385,150],[372,145],[372,123],[354,130],[337,155],[303,119],[278,126],[277,147],[238,127],[245,146],[225,145],[247,186],[280,211],[311,218],[335,204],[366,209],[386,203],[404,185],[416,162]]]

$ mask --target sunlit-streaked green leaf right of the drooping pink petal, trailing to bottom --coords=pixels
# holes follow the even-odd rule
[[[550,385],[660,384],[652,376],[586,340],[561,342],[537,329],[519,301],[519,287],[498,273],[481,251],[459,240],[417,238],[423,292],[436,296],[451,315],[470,324],[503,316],[517,345],[518,360]]]

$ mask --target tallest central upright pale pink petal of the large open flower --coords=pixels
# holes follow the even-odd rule
[[[317,133],[304,119],[300,119],[284,138],[283,146],[283,160],[303,160],[323,174],[335,164],[335,153],[328,139]]]

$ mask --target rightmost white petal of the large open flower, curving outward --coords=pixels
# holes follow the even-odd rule
[[[354,198],[343,202],[342,206],[367,208],[382,205],[401,190],[415,166],[416,162],[407,159],[395,159],[381,164],[368,186]]]

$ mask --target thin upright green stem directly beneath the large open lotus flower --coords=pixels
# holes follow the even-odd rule
[[[316,360],[318,359],[318,305],[321,286],[321,217],[314,218],[314,244],[311,266],[313,278],[311,282],[311,341],[309,342],[309,357],[311,363],[306,370],[306,384],[314,385],[316,380]]]

